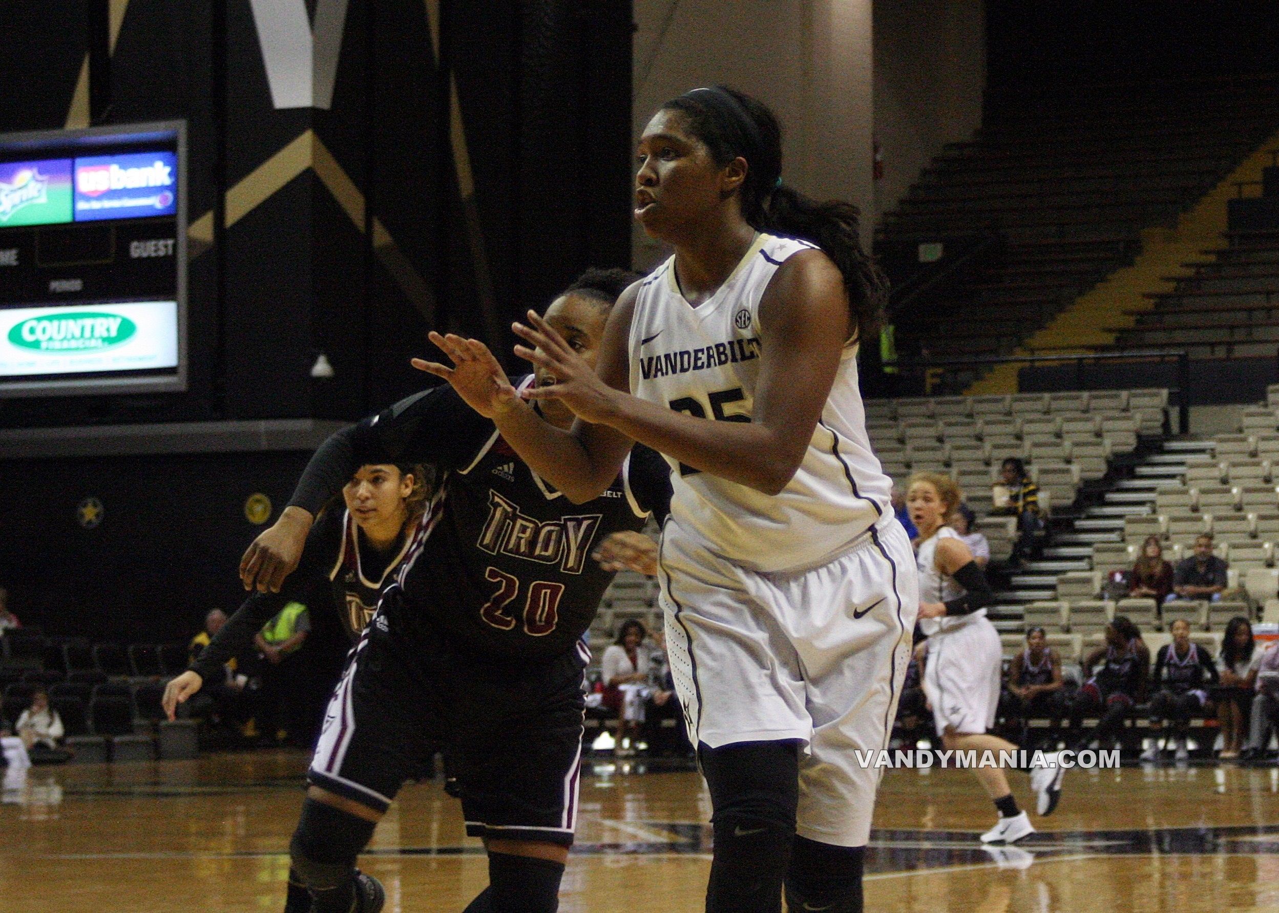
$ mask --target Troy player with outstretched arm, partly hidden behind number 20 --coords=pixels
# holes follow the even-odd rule
[[[205,682],[217,682],[224,664],[253,646],[253,636],[285,605],[303,600],[312,586],[330,581],[334,605],[352,646],[377,607],[382,587],[408,554],[428,504],[432,474],[422,465],[365,464],[341,487],[343,506],[318,511],[298,561],[276,592],[255,592],[226,620],[191,669],[165,685],[164,707],[174,717],[179,703]],[[432,758],[434,763],[434,758]],[[307,913],[311,894],[289,872],[285,913]]]

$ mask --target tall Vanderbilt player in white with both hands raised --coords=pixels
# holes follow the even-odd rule
[[[706,909],[862,909],[862,854],[917,611],[913,555],[865,431],[857,343],[883,285],[857,211],[781,184],[780,129],[723,87],[665,104],[636,216],[674,256],[609,317],[599,375],[545,321],[517,353],[579,418],[538,419],[485,347],[417,362],[574,501],[632,441],[674,469],[660,554],[675,684],[714,806]]]

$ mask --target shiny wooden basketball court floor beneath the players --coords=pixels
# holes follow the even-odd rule
[[[0,806],[0,910],[280,910],[304,762],[252,753],[36,769]],[[711,843],[701,777],[636,767],[597,762],[582,780],[564,913],[702,909]],[[1072,771],[1065,789],[1039,834],[987,850],[977,835],[993,812],[971,774],[888,771],[866,908],[1279,908],[1279,770]],[[386,885],[388,913],[458,910],[487,881],[480,841],[463,835],[439,781],[404,788],[361,864]]]

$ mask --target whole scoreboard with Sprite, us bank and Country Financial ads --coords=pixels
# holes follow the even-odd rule
[[[185,123],[0,134],[0,396],[184,390]]]

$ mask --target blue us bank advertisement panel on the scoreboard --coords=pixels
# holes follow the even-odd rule
[[[171,216],[178,211],[178,156],[137,152],[75,160],[75,221]]]

